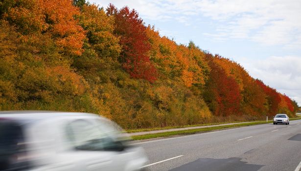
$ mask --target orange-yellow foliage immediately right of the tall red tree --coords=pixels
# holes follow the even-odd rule
[[[150,59],[155,61],[162,79],[169,77],[181,80],[187,87],[205,84],[210,69],[200,49],[183,44],[177,45],[166,37],[160,37],[154,27],[148,26],[146,34],[152,46]]]

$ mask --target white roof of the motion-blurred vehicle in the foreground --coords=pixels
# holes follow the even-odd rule
[[[43,120],[50,117],[62,117],[62,116],[99,116],[91,113],[82,112],[62,112],[62,111],[50,111],[50,110],[16,110],[16,111],[0,111],[1,119],[13,119],[13,120]]]

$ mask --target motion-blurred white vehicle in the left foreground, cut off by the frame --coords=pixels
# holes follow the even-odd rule
[[[144,150],[94,114],[0,112],[0,171],[139,171]]]

